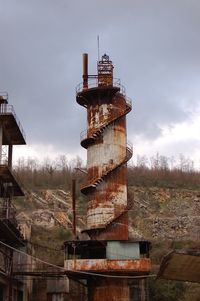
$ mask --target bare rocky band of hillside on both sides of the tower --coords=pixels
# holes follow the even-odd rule
[[[135,239],[199,240],[200,190],[129,187],[134,207],[129,211],[129,234]],[[45,229],[61,227],[71,231],[72,209],[69,191],[38,190],[15,200],[17,219]],[[77,232],[86,224],[86,202],[77,199]],[[67,239],[67,238],[66,238]]]

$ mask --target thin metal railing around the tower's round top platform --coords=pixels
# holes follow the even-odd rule
[[[98,88],[98,87],[110,87],[110,85],[99,85],[98,82],[98,76],[94,76],[92,78],[88,78],[88,87],[87,89],[91,89],[91,88]],[[113,78],[113,87],[118,87],[120,88],[120,92],[125,96],[126,95],[126,88],[121,84],[121,81],[119,78]],[[83,82],[79,83],[76,86],[76,94],[82,92],[83,89]]]

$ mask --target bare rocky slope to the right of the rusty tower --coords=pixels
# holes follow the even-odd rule
[[[200,239],[200,190],[130,187],[130,235],[167,240]]]

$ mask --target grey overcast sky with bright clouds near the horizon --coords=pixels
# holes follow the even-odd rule
[[[97,35],[133,100],[135,156],[182,153],[199,164],[199,0],[0,0],[0,91],[8,91],[28,145],[15,157],[85,158],[86,110],[75,87],[83,52],[96,72]]]

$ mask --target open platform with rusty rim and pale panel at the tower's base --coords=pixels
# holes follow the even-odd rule
[[[148,275],[151,270],[149,246],[147,241],[66,242],[64,267],[68,273],[76,273],[81,278],[88,277],[87,273]]]

